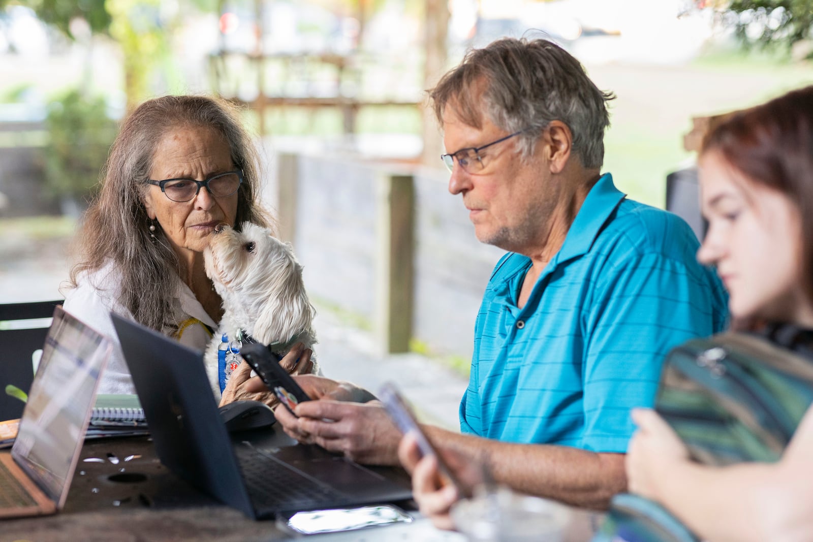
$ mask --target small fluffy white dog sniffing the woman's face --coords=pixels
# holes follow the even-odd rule
[[[267,228],[246,222],[237,232],[222,226],[212,233],[203,256],[224,307],[220,329],[205,356],[210,382],[220,397],[217,354],[223,334],[229,341],[249,336],[272,345],[281,357],[297,342],[306,348],[316,342],[315,310],[291,245],[276,239]],[[318,372],[315,362],[312,371]]]

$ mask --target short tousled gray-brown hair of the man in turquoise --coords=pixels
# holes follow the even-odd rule
[[[573,152],[589,169],[602,166],[606,102],[615,98],[589,79],[578,60],[544,39],[503,38],[468,51],[463,62],[429,91],[435,116],[451,105],[465,123],[481,128],[483,115],[506,132],[519,132],[523,158],[533,153],[551,120],[570,128]],[[447,149],[454,152],[456,149]]]

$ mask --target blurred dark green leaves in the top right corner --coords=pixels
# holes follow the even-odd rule
[[[732,0],[726,11],[737,15],[735,31],[746,45],[789,47],[813,30],[813,0]]]

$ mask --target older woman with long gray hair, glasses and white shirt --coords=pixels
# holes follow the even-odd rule
[[[203,249],[219,224],[271,225],[259,185],[258,154],[233,106],[202,96],[144,102],[111,147],[65,309],[113,338],[111,311],[205,349],[223,309]],[[311,352],[298,346],[283,363],[307,370]],[[134,392],[118,345],[99,391]]]

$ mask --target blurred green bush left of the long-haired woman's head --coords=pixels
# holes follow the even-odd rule
[[[88,197],[115,138],[103,98],[85,98],[77,90],[48,107],[45,149],[46,184],[56,197]]]

